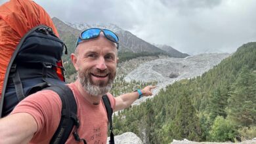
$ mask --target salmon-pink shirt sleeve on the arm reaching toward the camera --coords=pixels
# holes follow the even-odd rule
[[[53,136],[61,117],[62,102],[58,94],[52,90],[42,90],[28,96],[16,105],[14,113],[29,113],[37,122],[37,132],[33,139],[45,141]],[[39,135],[44,135],[40,137]],[[33,141],[32,139],[32,141]]]

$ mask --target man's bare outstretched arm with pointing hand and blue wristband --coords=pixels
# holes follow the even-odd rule
[[[156,88],[156,86],[146,86],[141,90],[143,96],[152,96],[152,89]],[[114,111],[119,111],[121,109],[125,109],[129,107],[133,101],[139,98],[138,92],[131,92],[127,94],[123,94],[121,96],[116,97],[116,107]]]

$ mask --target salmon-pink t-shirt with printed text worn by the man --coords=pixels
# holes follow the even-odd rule
[[[106,144],[108,116],[103,101],[98,105],[93,105],[83,98],[75,83],[68,84],[68,86],[72,89],[77,102],[77,118],[80,122],[79,137],[85,139],[87,143]],[[111,94],[107,95],[114,109],[116,100]],[[61,110],[62,102],[58,94],[52,90],[42,90],[20,101],[11,114],[25,112],[32,115],[37,122],[37,132],[30,143],[49,143],[58,128]],[[77,143],[72,133],[66,143]]]

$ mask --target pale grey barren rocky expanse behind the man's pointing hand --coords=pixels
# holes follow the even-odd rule
[[[190,79],[192,77],[200,76],[214,65],[217,65],[224,58],[230,54],[199,54],[186,58],[162,58],[152,60],[150,62],[142,63],[128,73],[125,81],[158,81],[157,88],[153,90],[153,94],[158,94],[161,88],[165,88],[168,84],[181,79]],[[148,97],[147,97],[148,98]],[[146,98],[141,98],[133,103],[139,104]]]

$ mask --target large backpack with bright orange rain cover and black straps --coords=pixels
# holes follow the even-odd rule
[[[30,94],[54,90],[62,100],[62,117],[51,143],[64,143],[72,128],[79,128],[77,105],[65,85],[63,50],[67,54],[51,17],[35,2],[11,0],[0,6],[0,117]],[[102,100],[112,133],[110,101],[106,96]],[[73,135],[81,140],[75,132]]]

